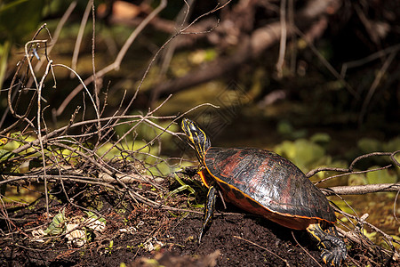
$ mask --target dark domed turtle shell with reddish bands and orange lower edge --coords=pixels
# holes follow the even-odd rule
[[[286,158],[268,150],[210,148],[206,167],[229,202],[285,227],[334,223],[324,194]]]

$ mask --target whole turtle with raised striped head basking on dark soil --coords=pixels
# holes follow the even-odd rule
[[[198,172],[208,188],[198,242],[212,224],[216,192],[252,214],[293,230],[306,230],[322,251],[324,263],[340,266],[347,248],[334,223],[336,214],[327,198],[299,167],[269,150],[212,147],[194,121],[183,118],[181,128],[202,164]]]

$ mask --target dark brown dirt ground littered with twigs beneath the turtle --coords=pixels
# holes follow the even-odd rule
[[[1,266],[324,266],[307,232],[291,231],[235,206],[224,210],[217,205],[218,214],[198,245],[200,208],[185,213],[130,203],[122,212],[122,202],[106,202],[100,211],[105,231],[89,233],[90,241],[80,248],[68,245],[65,236],[32,241],[31,230],[45,225],[44,205],[7,210],[13,220],[0,221]],[[52,199],[51,214],[63,206]],[[65,207],[67,218],[82,214],[75,206]],[[343,266],[398,266],[346,243],[350,249]]]

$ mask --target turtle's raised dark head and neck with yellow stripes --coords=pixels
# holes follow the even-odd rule
[[[207,134],[194,121],[188,118],[183,118],[181,127],[188,137],[188,141],[195,146],[199,158],[203,160],[205,152],[211,147]]]

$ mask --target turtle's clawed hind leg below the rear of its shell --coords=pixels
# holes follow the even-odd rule
[[[318,242],[324,263],[335,267],[340,266],[341,262],[346,259],[348,252],[345,242],[335,235],[334,228],[331,227],[330,231],[327,232],[322,230],[319,223],[314,223],[308,226],[307,231],[311,238]]]

